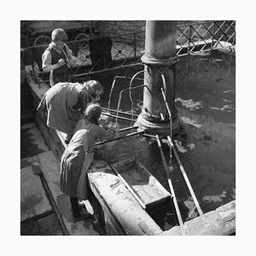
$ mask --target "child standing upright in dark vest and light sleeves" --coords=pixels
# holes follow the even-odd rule
[[[75,61],[72,50],[68,48],[67,33],[57,28],[51,33],[52,42],[42,55],[42,68],[49,72],[51,86],[59,82],[71,82],[69,67]]]

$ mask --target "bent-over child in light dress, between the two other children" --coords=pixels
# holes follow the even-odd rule
[[[46,112],[46,124],[51,129],[61,131],[66,143],[73,136],[75,125],[81,113],[90,102],[97,102],[103,93],[102,84],[96,80],[79,83],[59,83],[44,94],[38,105],[43,118]]]

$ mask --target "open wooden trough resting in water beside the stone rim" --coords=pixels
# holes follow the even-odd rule
[[[135,157],[121,160],[110,166],[143,208],[155,207],[171,196]]]

